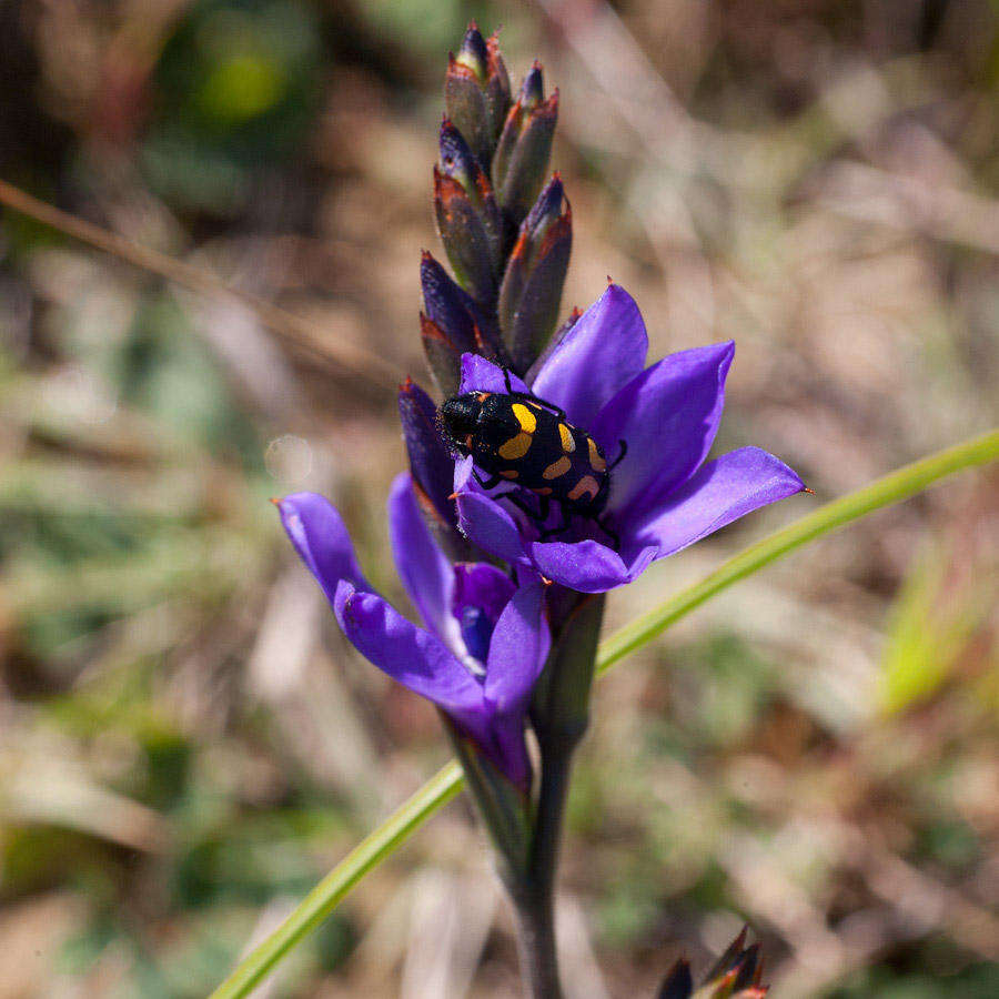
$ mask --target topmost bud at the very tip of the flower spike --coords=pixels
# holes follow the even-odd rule
[[[496,37],[485,41],[474,21],[457,57],[448,60],[444,105],[472,152],[487,168],[509,108],[509,78]]]

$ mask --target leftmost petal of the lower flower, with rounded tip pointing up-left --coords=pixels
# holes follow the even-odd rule
[[[371,589],[347,529],[329,500],[319,493],[293,493],[276,505],[291,543],[331,604],[341,579],[349,579],[359,589]]]

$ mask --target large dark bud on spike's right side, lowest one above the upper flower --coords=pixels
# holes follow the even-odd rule
[[[555,329],[572,246],[572,209],[556,173],[521,225],[500,287],[500,327],[518,374]]]

